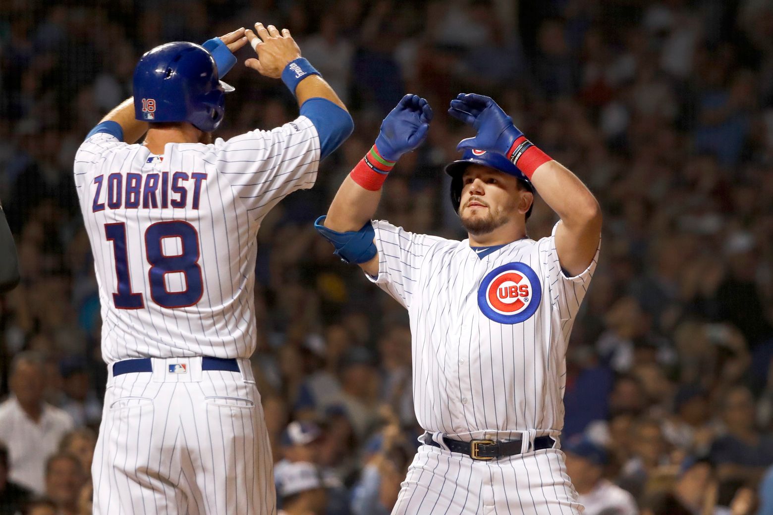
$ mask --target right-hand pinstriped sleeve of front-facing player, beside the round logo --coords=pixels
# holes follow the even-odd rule
[[[596,253],[587,269],[577,276],[567,276],[558,260],[556,250],[556,229],[558,223],[553,225],[550,237],[540,239],[540,261],[543,273],[547,273],[548,288],[550,290],[550,302],[554,310],[558,310],[561,320],[574,319],[580,310],[582,300],[587,293],[587,286],[591,283],[591,277],[598,262],[598,252],[601,250],[599,239]]]

